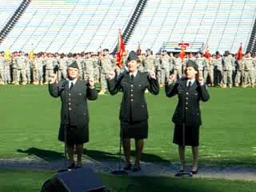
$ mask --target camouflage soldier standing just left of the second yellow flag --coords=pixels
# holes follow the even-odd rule
[[[22,80],[22,85],[27,84],[27,73],[26,73],[26,67],[27,67],[27,57],[25,56],[25,53],[19,52],[18,57],[16,59],[17,63],[17,80],[18,82]],[[15,83],[18,85],[19,83]]]

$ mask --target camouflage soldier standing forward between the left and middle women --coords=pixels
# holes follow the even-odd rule
[[[116,60],[111,57],[108,49],[103,50],[103,56],[100,58],[100,84],[101,90],[100,95],[105,94],[107,90],[106,78],[112,71],[116,71]]]

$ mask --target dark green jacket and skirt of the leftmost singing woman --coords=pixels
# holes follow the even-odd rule
[[[61,99],[61,122],[59,129],[60,141],[65,141],[65,126],[71,139],[75,143],[85,143],[89,141],[89,111],[87,99],[95,100],[98,93],[95,89],[90,89],[86,81],[77,79],[71,90],[68,87],[68,80],[63,79],[59,83],[49,84],[49,92],[54,98]],[[67,134],[67,138],[70,135]]]

